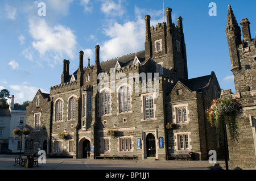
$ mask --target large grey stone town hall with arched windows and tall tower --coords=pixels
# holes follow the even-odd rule
[[[213,71],[188,79],[182,18],[175,25],[171,11],[167,8],[167,22],[155,27],[145,16],[141,52],[100,62],[96,45],[95,65],[88,61],[84,67],[80,51],[79,68],[72,75],[69,60],[64,60],[60,84],[52,86],[50,94],[39,90],[27,107],[31,135],[25,141],[26,152],[44,149],[47,155],[91,159],[104,154],[166,159],[172,153],[191,152],[193,159],[207,159],[209,150],[220,150],[216,129],[204,113],[220,86]],[[102,73],[110,77],[109,86],[98,90]],[[147,75],[146,81],[142,75]],[[122,76],[131,82],[119,83]],[[149,82],[155,91],[142,91]],[[168,123],[176,127],[167,129]]]

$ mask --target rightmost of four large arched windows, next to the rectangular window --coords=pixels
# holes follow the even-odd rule
[[[122,86],[118,90],[119,113],[131,111],[131,94],[127,86]]]

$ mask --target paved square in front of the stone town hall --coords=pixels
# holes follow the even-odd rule
[[[32,168],[14,166],[19,154],[0,154],[0,170],[209,170],[208,161],[123,161],[112,159],[46,158]],[[225,170],[225,161],[217,161]]]

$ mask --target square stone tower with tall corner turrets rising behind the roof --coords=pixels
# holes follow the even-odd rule
[[[163,66],[163,74],[171,77],[175,83],[179,78],[188,79],[188,70],[182,18],[177,18],[175,26],[171,12],[172,9],[167,8],[167,22],[155,27],[150,26],[150,16],[145,16],[145,58]]]

